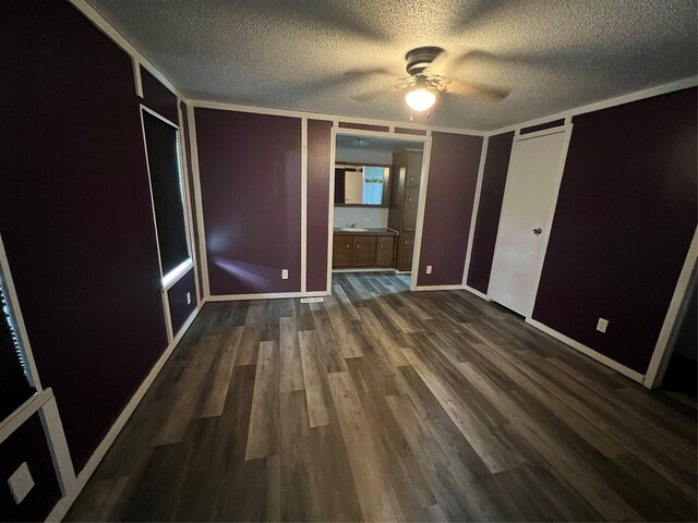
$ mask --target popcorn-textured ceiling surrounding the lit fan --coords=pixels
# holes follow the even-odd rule
[[[88,0],[185,96],[409,121],[402,96],[350,98],[405,53],[479,52],[450,71],[507,87],[443,95],[426,123],[493,130],[696,75],[696,0]],[[493,57],[493,56],[494,57]],[[417,119],[416,119],[417,121]],[[424,120],[419,120],[424,121]]]

